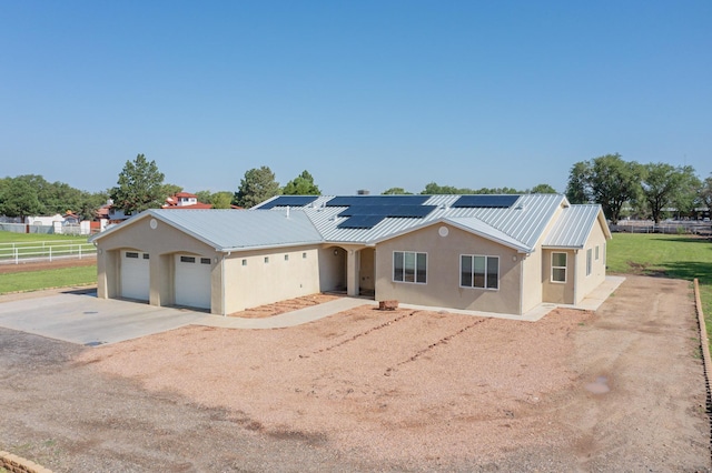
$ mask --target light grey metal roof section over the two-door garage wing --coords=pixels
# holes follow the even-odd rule
[[[99,233],[90,241],[100,240],[136,222],[155,218],[217,251],[238,251],[258,248],[294,246],[323,241],[319,232],[304,211],[287,212],[209,209],[182,210],[151,209]]]

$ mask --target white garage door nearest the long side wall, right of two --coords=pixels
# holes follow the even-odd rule
[[[176,255],[176,305],[210,309],[210,259]]]

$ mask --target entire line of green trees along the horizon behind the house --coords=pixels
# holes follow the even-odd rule
[[[144,154],[126,161],[117,185],[103,192],[81,191],[62,182],[50,183],[41,175],[28,174],[0,179],[0,214],[24,218],[34,214],[67,211],[92,220],[97,210],[109,199],[117,209],[134,214],[158,209],[166,199],[182,191],[179,185],[165,183],[165,175],[156,161]],[[245,172],[237,191],[197,191],[198,200],[216,209],[251,208],[275,195],[320,195],[322,191],[308,171],[280,185],[269,167]],[[532,189],[513,188],[468,189],[431,182],[419,194],[523,194],[556,193],[548,184]],[[712,208],[712,178],[701,180],[692,167],[665,163],[639,164],[627,162],[620,154],[606,154],[576,162],[570,171],[566,197],[571,203],[597,203],[613,223],[625,208],[655,222],[670,208],[690,215],[696,208]],[[382,194],[411,194],[403,188],[390,188]]]

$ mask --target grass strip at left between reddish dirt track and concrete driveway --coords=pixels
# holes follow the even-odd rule
[[[61,268],[44,271],[7,273],[0,278],[0,294],[8,292],[39,291],[48,288],[67,288],[97,283],[97,265]]]

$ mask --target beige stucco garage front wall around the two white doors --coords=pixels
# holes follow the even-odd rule
[[[121,294],[121,250],[134,250],[150,255],[149,303],[151,305],[175,303],[174,258],[177,253],[210,258],[211,281],[214,284],[220,282],[215,249],[160,221],[156,221],[156,228],[152,229],[151,220],[144,218],[135,222],[121,223],[126,227],[97,240],[97,295],[99,298],[117,298]],[[211,298],[211,312],[219,313],[220,308],[215,304],[215,291]]]

